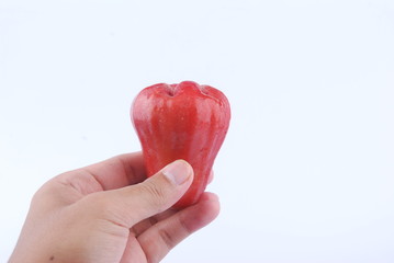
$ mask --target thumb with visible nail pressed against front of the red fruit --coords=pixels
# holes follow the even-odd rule
[[[105,210],[102,215],[105,219],[131,228],[170,208],[182,197],[192,181],[192,167],[187,161],[177,160],[139,184],[102,192],[104,201],[97,202],[97,208]]]

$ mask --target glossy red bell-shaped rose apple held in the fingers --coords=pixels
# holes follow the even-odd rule
[[[131,117],[143,148],[147,176],[175,160],[188,161],[194,180],[173,207],[196,203],[228,130],[227,98],[215,88],[192,81],[158,83],[139,92]]]

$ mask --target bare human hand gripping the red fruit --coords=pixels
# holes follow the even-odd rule
[[[34,195],[10,262],[159,262],[218,214],[216,195],[170,207],[193,180],[185,161],[146,179],[140,152],[60,174]]]

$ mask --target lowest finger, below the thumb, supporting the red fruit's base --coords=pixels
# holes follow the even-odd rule
[[[147,262],[159,262],[173,247],[192,232],[209,225],[219,211],[216,195],[204,193],[198,204],[190,206],[137,237]]]

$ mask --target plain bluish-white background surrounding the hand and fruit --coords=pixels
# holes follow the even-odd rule
[[[221,216],[164,262],[394,262],[390,0],[0,0],[0,262],[35,191],[138,150],[134,96],[182,80],[233,118]]]

